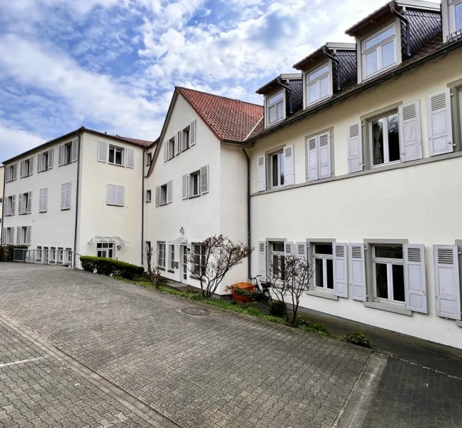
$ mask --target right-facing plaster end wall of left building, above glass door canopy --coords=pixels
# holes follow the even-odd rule
[[[81,191],[79,200],[79,244],[77,253],[96,255],[92,236],[120,236],[129,241],[116,250],[114,257],[141,265],[141,198],[143,183],[143,148],[84,133],[81,138]],[[134,168],[98,162],[98,141],[134,149]],[[109,146],[108,146],[109,147]],[[124,185],[125,205],[106,205],[106,184]]]

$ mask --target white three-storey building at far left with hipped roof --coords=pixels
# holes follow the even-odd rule
[[[151,143],[82,127],[4,161],[2,243],[28,245],[41,263],[77,253],[141,265]]]

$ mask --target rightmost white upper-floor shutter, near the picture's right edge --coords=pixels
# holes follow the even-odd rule
[[[428,141],[430,156],[451,153],[453,151],[451,121],[451,91],[433,93],[427,98]]]

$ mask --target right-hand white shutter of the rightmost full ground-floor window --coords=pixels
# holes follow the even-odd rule
[[[404,250],[404,280],[408,310],[427,313],[425,247],[406,244]]]

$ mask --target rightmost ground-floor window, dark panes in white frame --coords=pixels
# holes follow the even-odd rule
[[[373,245],[373,286],[376,300],[404,305],[402,245]]]

